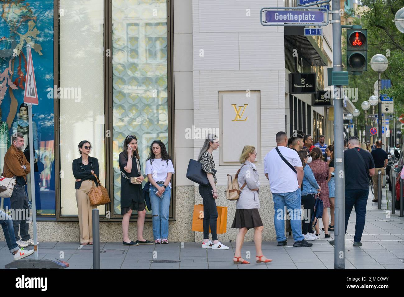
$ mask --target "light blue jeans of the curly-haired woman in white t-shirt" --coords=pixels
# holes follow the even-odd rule
[[[151,215],[153,221],[153,237],[154,240],[168,238],[168,215],[170,211],[171,188],[166,187],[166,190],[160,198],[154,191],[156,187],[150,185],[150,203]]]

